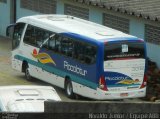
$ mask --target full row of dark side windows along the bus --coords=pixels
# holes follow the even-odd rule
[[[24,36],[24,43],[45,48],[54,53],[74,58],[82,63],[94,64],[96,61],[96,46],[35,26],[28,25]]]

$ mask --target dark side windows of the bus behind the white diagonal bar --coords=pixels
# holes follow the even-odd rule
[[[96,61],[96,46],[58,34],[50,38],[43,48],[86,64],[93,64]]]

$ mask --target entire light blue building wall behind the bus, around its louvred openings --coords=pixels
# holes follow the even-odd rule
[[[3,4],[0,3],[0,14],[3,17],[0,17],[0,35],[5,35],[5,28],[6,26],[10,23],[10,4],[9,4],[8,0],[8,4]],[[74,5],[77,6],[78,8],[85,8],[85,9],[89,9],[89,20],[99,23],[99,24],[103,24],[103,13],[107,13],[107,14],[111,14],[120,18],[125,18],[125,19],[129,19],[129,34],[131,35],[135,35],[139,38],[142,38],[145,40],[145,24],[149,23],[149,24],[153,24],[156,26],[160,26],[160,23],[155,23],[155,22],[150,22],[149,20],[145,20],[143,18],[138,18],[135,16],[130,16],[130,15],[126,15],[126,14],[122,14],[122,13],[118,13],[115,11],[111,11],[111,10],[106,10],[104,8],[98,8],[95,6],[89,6],[89,5],[85,5],[85,4],[80,4],[77,2],[69,2],[68,0],[57,0],[57,7],[56,7],[56,13],[57,14],[64,14],[65,13],[65,4],[70,4],[70,5]],[[3,11],[7,11],[8,14],[3,14]],[[40,12],[35,12],[32,10],[27,10],[24,8],[21,8],[20,6],[20,0],[17,0],[17,19],[23,16],[28,16],[28,15],[34,15],[34,14],[41,14]],[[153,44],[153,43],[147,43],[147,55],[148,57],[153,60],[156,61],[158,66],[160,67],[160,45],[157,44]]]

